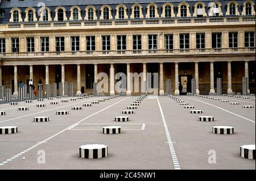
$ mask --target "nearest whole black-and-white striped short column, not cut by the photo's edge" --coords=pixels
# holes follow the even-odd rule
[[[79,157],[88,159],[97,159],[107,157],[109,153],[106,145],[81,145],[79,147]]]

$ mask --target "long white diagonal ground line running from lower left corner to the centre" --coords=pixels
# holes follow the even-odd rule
[[[125,98],[125,99],[129,99],[129,98],[130,98],[130,96],[127,97],[127,98]],[[86,119],[88,119],[88,118],[90,118],[90,117],[96,115],[97,113],[100,113],[100,112],[102,112],[102,111],[105,111],[106,109],[108,109],[108,108],[114,106],[115,104],[118,104],[118,103],[122,102],[122,101],[125,100],[125,99],[119,100],[118,102],[116,102],[116,103],[114,103],[114,104],[112,104],[112,105],[110,105],[110,106],[108,106],[108,107],[105,107],[104,109],[102,109],[102,110],[100,110],[100,111],[98,111],[98,112],[96,112],[96,113],[93,113],[93,114],[90,115],[90,116],[85,117],[84,119],[78,121],[77,123],[72,124],[70,127],[63,129],[62,131],[60,131],[60,132],[58,132],[58,133],[56,133],[56,134],[53,134],[51,137],[48,137],[48,138],[46,138],[45,140],[40,141],[40,142],[41,142],[42,144],[45,143],[46,141],[48,141],[48,140],[50,140],[51,138],[53,138],[53,137],[55,137],[55,136],[57,136],[57,135],[63,133],[64,131],[67,131],[68,129],[74,128],[74,127],[75,127],[74,125],[78,125],[78,124],[81,123],[82,121],[84,121],[84,120],[86,120]],[[81,103],[81,102],[80,102],[80,103]],[[70,106],[70,105],[69,105],[69,106]],[[32,150],[32,149],[36,148],[36,146],[38,146],[38,145],[33,145],[33,146],[31,146],[30,148],[28,148],[28,149],[26,149],[26,150]],[[20,152],[19,154],[22,155],[22,152]],[[16,154],[16,155],[13,156],[13,157],[19,157],[19,155]],[[9,158],[9,159],[11,159],[11,158]],[[2,163],[0,163],[0,166],[5,165],[5,162],[7,162],[7,159],[6,159],[6,161],[3,161]]]

